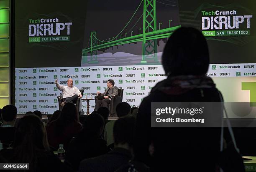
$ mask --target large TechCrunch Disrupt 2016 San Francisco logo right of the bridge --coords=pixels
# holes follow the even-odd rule
[[[253,18],[253,15],[237,15],[236,10],[201,12],[202,30],[210,30],[202,31],[205,36],[250,35],[250,30],[248,29],[251,27],[251,18]],[[237,30],[241,29],[241,25],[246,30]]]

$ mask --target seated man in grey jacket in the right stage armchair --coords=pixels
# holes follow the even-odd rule
[[[107,87],[108,89],[104,93],[97,92],[97,95],[103,95],[103,100],[97,100],[94,111],[97,111],[101,106],[102,107],[108,107],[108,104],[110,103],[110,99],[116,95],[118,95],[118,87],[114,86],[115,82],[114,80],[108,80]]]

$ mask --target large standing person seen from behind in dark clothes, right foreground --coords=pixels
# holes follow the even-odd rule
[[[213,172],[220,154],[218,128],[151,127],[151,102],[221,102],[220,92],[206,76],[209,52],[205,37],[191,27],[177,29],[164,47],[162,64],[167,79],[143,98],[137,115],[135,159],[151,166],[151,171],[180,171],[185,156],[189,171]],[[149,145],[154,146],[153,158]]]

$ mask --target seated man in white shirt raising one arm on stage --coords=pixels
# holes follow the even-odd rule
[[[79,89],[73,86],[73,80],[71,78],[67,80],[67,86],[60,85],[58,80],[55,80],[55,83],[56,87],[63,93],[63,102],[61,102],[61,106],[64,106],[67,102],[75,103],[78,97],[82,97]]]

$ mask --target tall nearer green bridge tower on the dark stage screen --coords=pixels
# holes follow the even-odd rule
[[[157,63],[157,40],[146,40],[147,32],[154,32],[156,26],[156,0],[144,0],[143,5],[143,41],[141,63]]]

